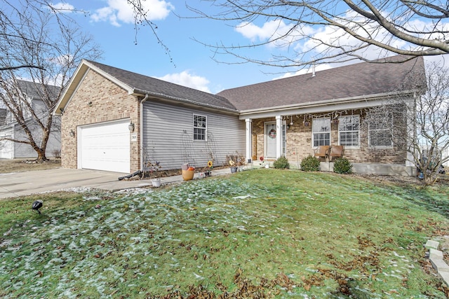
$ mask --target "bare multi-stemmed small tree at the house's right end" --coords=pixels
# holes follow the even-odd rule
[[[422,74],[413,73],[404,86],[415,90],[415,97],[398,92],[395,99],[371,109],[366,122],[382,122],[393,146],[406,148],[408,161],[417,167],[424,183],[431,184],[449,161],[449,69],[431,64],[426,73],[425,83]],[[392,121],[382,115],[391,116]]]

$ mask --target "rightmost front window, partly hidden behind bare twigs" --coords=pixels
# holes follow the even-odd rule
[[[376,113],[368,123],[368,142],[374,147],[391,147],[391,113]]]

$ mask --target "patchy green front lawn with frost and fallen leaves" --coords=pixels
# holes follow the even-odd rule
[[[423,244],[448,211],[444,186],[275,169],[0,200],[0,297],[445,298]]]

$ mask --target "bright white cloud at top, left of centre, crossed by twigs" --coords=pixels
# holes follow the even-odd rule
[[[108,0],[108,6],[99,8],[91,15],[91,19],[95,22],[110,22],[112,25],[119,27],[121,23],[133,23],[135,15],[133,6],[128,4],[127,0]],[[163,0],[146,0],[142,1],[142,8],[146,12],[148,20],[163,20],[175,7]]]

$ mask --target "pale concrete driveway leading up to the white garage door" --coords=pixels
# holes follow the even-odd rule
[[[32,172],[0,174],[0,198],[18,197],[74,187],[116,191],[151,185],[151,181],[119,181],[117,172],[88,169],[48,169]]]

